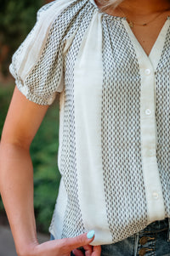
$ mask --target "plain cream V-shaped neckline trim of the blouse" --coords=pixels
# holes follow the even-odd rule
[[[127,34],[130,37],[131,42],[133,43],[133,47],[135,51],[136,52],[139,51],[144,56],[145,59],[150,60],[151,65],[156,71],[156,67],[159,63],[159,60],[161,59],[162,50],[166,41],[167,30],[170,26],[170,16],[167,16],[167,20],[165,21],[164,25],[161,27],[161,31],[159,32],[156,38],[156,41],[150,50],[149,55],[146,54],[146,52],[144,51],[144,48],[139,43],[139,40],[137,39],[137,37],[135,37],[132,29],[128,25],[127,20],[122,20],[122,23],[124,24]]]

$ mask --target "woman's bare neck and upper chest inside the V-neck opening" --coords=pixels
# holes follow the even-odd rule
[[[115,10],[110,8],[106,12],[115,16],[126,16],[127,20],[132,20],[137,24],[143,24],[153,20],[147,26],[134,25],[132,29],[134,36],[138,39],[142,48],[144,48],[144,52],[149,56],[161,28],[167,20],[167,16],[170,15],[170,1],[124,0]],[[156,18],[160,13],[162,14]],[[154,18],[156,18],[156,20],[154,20]]]

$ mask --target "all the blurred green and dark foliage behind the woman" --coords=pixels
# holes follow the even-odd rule
[[[8,65],[16,48],[26,38],[37,19],[37,10],[48,0],[3,0],[0,8],[0,72],[8,77]],[[8,105],[13,94],[14,82],[0,83],[0,135]],[[34,203],[38,230],[48,232],[58,194],[59,171],[57,168],[59,130],[59,105],[54,102],[42,121],[31,145],[34,166]],[[0,200],[0,212],[4,213]]]

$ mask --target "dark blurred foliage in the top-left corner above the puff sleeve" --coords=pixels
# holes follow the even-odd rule
[[[24,40],[37,17],[44,0],[3,0],[0,8],[0,65],[8,75],[8,61],[20,42]]]

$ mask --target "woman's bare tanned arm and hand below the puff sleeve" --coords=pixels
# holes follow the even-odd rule
[[[15,88],[0,145],[0,191],[19,255],[65,256],[72,249],[94,240],[86,235],[38,245],[33,208],[31,141],[37,133],[47,105],[37,105]],[[87,247],[87,255],[100,255],[100,247]],[[78,253],[78,252],[77,252]],[[76,253],[75,253],[76,254]],[[81,254],[76,254],[81,255]]]

